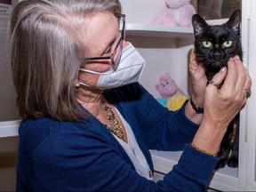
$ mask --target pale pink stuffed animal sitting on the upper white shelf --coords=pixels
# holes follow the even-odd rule
[[[196,13],[190,0],[165,0],[166,8],[160,12],[152,24],[191,27],[191,18]]]

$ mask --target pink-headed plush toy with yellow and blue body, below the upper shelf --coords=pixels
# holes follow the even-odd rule
[[[159,77],[159,82],[155,84],[155,88],[163,97],[158,98],[158,102],[169,110],[178,110],[188,100],[188,96],[182,92],[168,73]]]

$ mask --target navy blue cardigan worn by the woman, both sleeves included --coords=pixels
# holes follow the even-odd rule
[[[183,150],[172,172],[157,183],[141,177],[124,148],[94,116],[84,123],[51,118],[23,120],[17,191],[205,191],[219,158],[191,148],[198,129],[185,116],[163,108],[140,84],[105,91],[131,125],[154,170],[149,149]]]

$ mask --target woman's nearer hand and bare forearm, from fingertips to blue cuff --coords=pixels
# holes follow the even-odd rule
[[[251,90],[252,79],[242,61],[235,56],[228,60],[228,68],[221,68],[212,81],[217,84],[224,82],[220,89],[213,84],[206,86],[204,118],[193,143],[205,151],[217,153],[228,124],[244,108],[246,90]]]

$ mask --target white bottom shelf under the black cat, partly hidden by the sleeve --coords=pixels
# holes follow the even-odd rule
[[[156,172],[166,174],[172,170],[173,165],[177,164],[182,151],[156,151],[150,150],[154,168]],[[225,180],[225,182],[223,182]],[[215,188],[221,191],[239,191],[238,190],[238,169],[237,168],[222,168],[212,175],[210,188]]]

